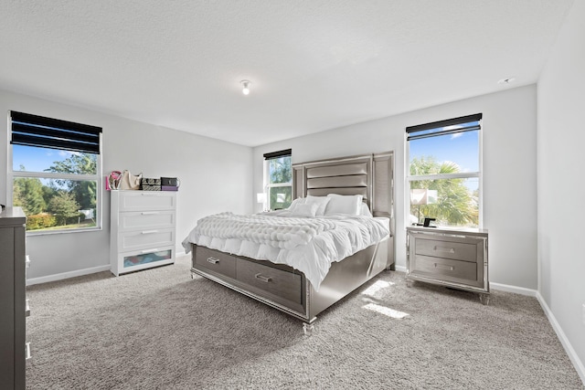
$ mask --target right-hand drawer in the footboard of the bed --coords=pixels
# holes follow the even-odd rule
[[[284,300],[302,303],[301,275],[238,258],[238,280]]]

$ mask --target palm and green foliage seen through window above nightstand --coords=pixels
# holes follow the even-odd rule
[[[433,157],[421,157],[410,163],[410,175],[456,174],[459,165],[438,163]],[[410,182],[410,188],[427,188],[437,191],[437,203],[420,206],[420,214],[437,218],[441,225],[477,226],[479,199],[465,185],[465,179],[420,180]],[[419,216],[419,206],[410,206],[410,214]]]

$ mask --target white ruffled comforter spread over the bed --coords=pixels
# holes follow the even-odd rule
[[[319,290],[331,263],[388,237],[388,218],[324,216],[294,218],[278,213],[221,213],[197,221],[183,240],[234,255],[270,260],[298,269]]]

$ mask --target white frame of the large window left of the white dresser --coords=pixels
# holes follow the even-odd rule
[[[96,173],[95,174],[61,174],[53,172],[27,172],[27,171],[15,171],[14,170],[14,155],[13,155],[13,143],[12,140],[12,111],[8,111],[7,118],[7,142],[6,142],[6,203],[8,206],[13,206],[14,202],[14,180],[15,178],[38,178],[38,179],[62,179],[62,180],[73,180],[73,181],[95,181],[96,182],[96,211],[95,211],[95,227],[82,227],[82,228],[61,228],[54,230],[27,230],[27,236],[44,236],[64,233],[80,233],[90,231],[101,231],[103,229],[103,174],[102,174],[102,155],[103,155],[103,140],[102,132],[99,134],[99,153],[96,156]],[[60,120],[56,120],[60,121]],[[59,149],[55,147],[42,148],[35,145],[39,149],[49,149],[52,151],[66,150],[68,152],[76,153],[77,151],[71,149]]]

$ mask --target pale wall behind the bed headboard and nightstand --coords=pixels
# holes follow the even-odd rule
[[[262,189],[262,153],[293,149],[293,163],[394,151],[396,259],[406,267],[405,128],[484,114],[484,228],[490,281],[537,289],[536,86],[460,100],[254,148],[254,191]],[[254,205],[258,210],[258,206]]]

